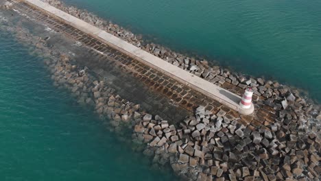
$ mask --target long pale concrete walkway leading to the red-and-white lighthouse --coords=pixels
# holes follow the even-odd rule
[[[146,51],[143,51],[142,49],[139,49],[138,47],[135,47],[134,45],[131,45],[130,43],[127,43],[126,41],[121,40],[120,38],[117,38],[116,36],[113,36],[112,34],[109,34],[102,29],[90,25],[42,1],[23,1],[31,5],[32,7],[45,12],[46,14],[56,17],[67,25],[71,25],[81,32],[84,32],[85,34],[88,34],[93,38],[97,38],[97,40],[106,43],[106,45],[112,47],[113,49],[121,51],[121,53],[124,53],[127,56],[130,56],[131,58],[142,62],[148,67],[151,67],[152,69],[155,69],[156,71],[159,71],[160,73],[173,78],[181,84],[185,84],[198,93],[201,93],[202,95],[209,97],[219,102],[220,104],[223,104],[224,106],[239,112],[240,114],[248,115],[252,114],[252,112],[254,111],[253,105],[250,109],[246,110],[242,109],[239,106],[239,101],[241,100],[241,97],[239,97],[239,95],[235,95],[234,93],[231,93],[224,88],[216,86],[211,82],[203,80],[202,78],[195,76],[192,73],[189,73],[174,66],[173,64],[170,64],[169,62],[165,62],[164,60],[150,53],[147,53]]]

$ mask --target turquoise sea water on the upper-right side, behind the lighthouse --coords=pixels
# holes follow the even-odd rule
[[[307,90],[321,102],[321,1],[64,0],[174,50]]]

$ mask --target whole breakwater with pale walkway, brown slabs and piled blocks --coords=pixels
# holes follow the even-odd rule
[[[160,102],[158,109],[163,108],[162,102],[170,101],[181,108],[180,114],[188,114],[185,119],[167,121],[163,119],[166,111],[160,112],[161,117],[141,112],[140,106],[128,102],[132,100],[122,99],[104,81],[91,77],[87,69],[104,77],[104,71],[95,69],[97,65],[88,63],[86,69],[76,70],[67,56],[48,62],[53,80],[95,105],[98,114],[107,114],[111,126],[130,125],[132,141],[147,143],[143,152],[157,164],[170,164],[178,175],[190,180],[318,178],[320,137],[308,122],[320,119],[319,112],[312,114],[313,105],[295,90],[260,78],[246,79],[189,58],[179,64],[165,62],[155,56],[162,49],[149,49],[152,55],[47,3],[7,2],[5,8],[32,17],[100,56],[97,64],[101,69],[112,64],[153,90],[159,99],[155,101]],[[47,41],[43,38],[38,47],[50,51]],[[239,101],[248,85],[255,88],[255,110],[244,115]]]

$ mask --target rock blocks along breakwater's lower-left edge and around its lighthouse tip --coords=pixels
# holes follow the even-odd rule
[[[80,104],[92,105],[97,114],[108,117],[117,134],[133,130],[130,142],[136,144],[136,150],[150,156],[156,167],[171,165],[183,180],[320,179],[320,128],[309,122],[321,115],[314,106],[302,104],[305,99],[294,90],[277,89],[287,96],[276,99],[278,118],[265,128],[242,125],[224,112],[213,114],[202,106],[180,125],[169,125],[157,115],[141,112],[139,104],[121,99],[65,52],[47,47],[47,38],[18,27],[12,31],[19,40],[34,45],[36,52],[49,56],[45,64],[56,86],[67,88]],[[233,75],[224,73],[224,81]],[[279,86],[260,78],[244,81],[259,85],[263,94],[269,91],[267,86]],[[267,97],[261,104],[272,104],[275,99],[271,99]]]

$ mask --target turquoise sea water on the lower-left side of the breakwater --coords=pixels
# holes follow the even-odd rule
[[[0,180],[173,180],[54,87],[43,60],[8,32],[0,67]]]

